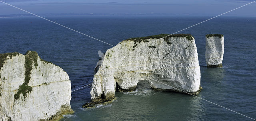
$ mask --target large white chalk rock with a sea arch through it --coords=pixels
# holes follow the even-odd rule
[[[157,90],[198,94],[200,66],[194,38],[182,34],[159,39],[164,36],[127,39],[108,49],[96,67],[92,101],[111,100],[115,91],[134,91],[141,80]]]

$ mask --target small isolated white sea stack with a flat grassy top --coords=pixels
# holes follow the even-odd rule
[[[220,34],[206,35],[205,59],[207,67],[223,67],[224,37]]]

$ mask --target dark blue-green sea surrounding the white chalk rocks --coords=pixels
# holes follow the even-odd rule
[[[210,16],[45,16],[110,43],[132,37],[174,33]],[[256,18],[220,16],[180,33],[194,36],[201,70],[198,97],[256,119]],[[223,68],[207,68],[205,35],[224,35]],[[72,90],[92,83],[98,50],[111,46],[37,17],[0,18],[0,53],[37,51],[63,68]],[[140,90],[116,93],[108,105],[83,109],[90,87],[72,92],[72,115],[61,121],[252,121],[187,94]]]

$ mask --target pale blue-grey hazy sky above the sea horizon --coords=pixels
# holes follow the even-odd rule
[[[254,0],[1,0],[34,14],[174,14],[216,16]],[[0,2],[0,15],[27,14]],[[256,17],[256,2],[227,14]]]

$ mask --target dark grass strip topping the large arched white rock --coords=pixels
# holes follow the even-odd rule
[[[168,36],[168,37],[166,37]],[[152,36],[147,36],[147,37],[135,37],[135,38],[130,38],[130,39],[126,39],[124,41],[134,41],[134,42],[141,42],[142,40],[146,40],[146,39],[160,39],[160,38],[164,38],[164,40],[166,40],[166,38],[169,37],[186,37],[186,39],[188,40],[193,40],[192,35],[190,34],[174,34],[174,35],[169,35],[169,34],[160,34],[160,35],[152,35]],[[148,42],[148,41],[145,41]]]

